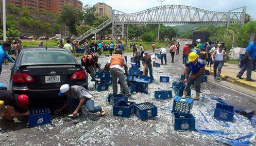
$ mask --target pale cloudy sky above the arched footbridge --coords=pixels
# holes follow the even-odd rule
[[[80,0],[83,5],[93,6],[98,2],[104,2],[111,6],[112,9],[119,10],[125,13],[139,12],[148,8],[160,6],[160,2],[157,0],[101,0],[101,1],[88,1]],[[224,11],[246,6],[246,13],[250,14],[253,20],[256,19],[256,0],[165,0],[162,5],[186,5],[193,6],[201,9],[212,11]]]

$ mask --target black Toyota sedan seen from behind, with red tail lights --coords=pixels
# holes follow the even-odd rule
[[[27,94],[30,99],[49,99],[58,97],[63,84],[86,86],[86,71],[70,51],[62,48],[21,50],[11,70],[12,92]]]

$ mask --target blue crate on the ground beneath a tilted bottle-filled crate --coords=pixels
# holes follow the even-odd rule
[[[195,117],[192,114],[173,113],[174,130],[195,130]]]

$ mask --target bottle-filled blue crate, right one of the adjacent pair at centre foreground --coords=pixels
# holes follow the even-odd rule
[[[134,105],[134,113],[142,120],[157,116],[157,107],[150,102],[144,102]]]

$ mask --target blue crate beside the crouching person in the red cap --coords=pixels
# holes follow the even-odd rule
[[[50,111],[48,108],[29,110],[28,125],[29,127],[39,126],[50,123]]]

